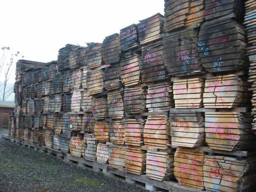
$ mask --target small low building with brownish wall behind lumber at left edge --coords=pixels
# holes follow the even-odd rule
[[[0,101],[0,128],[8,128],[9,112],[14,111],[14,101]]]

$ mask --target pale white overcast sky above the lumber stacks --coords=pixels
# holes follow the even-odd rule
[[[158,12],[164,0],[1,0],[0,46],[48,62],[68,43],[102,42]]]

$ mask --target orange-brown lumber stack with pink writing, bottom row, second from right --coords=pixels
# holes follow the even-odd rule
[[[174,176],[179,184],[204,190],[204,152],[177,148],[174,154]]]

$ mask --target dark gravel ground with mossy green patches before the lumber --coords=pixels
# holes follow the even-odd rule
[[[1,133],[6,133],[0,130]],[[0,192],[148,192],[0,138]]]

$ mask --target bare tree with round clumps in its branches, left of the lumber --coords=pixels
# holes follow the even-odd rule
[[[8,84],[14,66],[18,60],[20,52],[17,51],[15,54],[10,52],[10,47],[2,47],[2,56],[0,60],[0,76],[4,76],[4,82],[0,88],[0,94],[2,95],[2,101],[5,101],[13,92],[13,84]],[[24,56],[22,56],[24,58]]]

